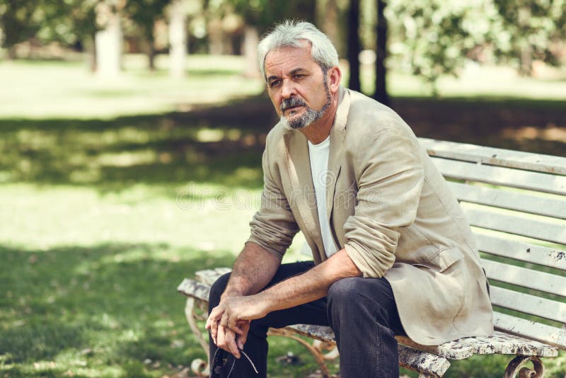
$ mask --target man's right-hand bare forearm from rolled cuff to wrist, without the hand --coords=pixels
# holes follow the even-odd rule
[[[266,304],[267,312],[288,309],[325,297],[330,285],[337,280],[361,275],[362,272],[342,249],[306,273],[279,282],[255,297]]]

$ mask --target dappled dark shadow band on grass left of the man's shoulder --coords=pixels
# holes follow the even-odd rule
[[[119,190],[197,181],[258,188],[272,125],[262,119],[248,109],[240,116],[196,110],[115,120],[0,120],[0,183]]]

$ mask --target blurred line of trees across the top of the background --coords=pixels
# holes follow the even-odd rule
[[[560,64],[565,8],[566,0],[4,0],[0,37],[8,59],[22,42],[56,42],[98,55],[99,66],[112,62],[110,71],[120,70],[123,40],[127,52],[148,56],[149,69],[158,52],[170,52],[181,74],[187,51],[241,54],[243,74],[251,77],[258,75],[260,35],[286,18],[301,19],[328,33],[347,56],[354,89],[360,88],[360,52],[374,51],[373,95],[388,103],[391,62],[421,76],[433,93],[440,76],[458,74],[469,60],[511,62],[524,75],[537,60]],[[160,23],[170,25],[160,37],[168,43],[156,43],[167,34],[156,29]]]

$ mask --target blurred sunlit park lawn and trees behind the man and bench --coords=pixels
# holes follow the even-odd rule
[[[284,18],[417,136],[566,156],[564,0],[0,0],[0,377],[192,376],[175,288],[248,237],[275,122],[255,46]],[[271,345],[270,377],[316,370]]]

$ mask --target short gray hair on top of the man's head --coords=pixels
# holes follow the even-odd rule
[[[315,25],[304,21],[287,20],[276,25],[258,45],[260,71],[263,79],[267,81],[265,57],[270,51],[282,47],[301,47],[301,42],[304,40],[311,44],[311,57],[323,71],[328,71],[331,67],[338,65],[336,47]]]

